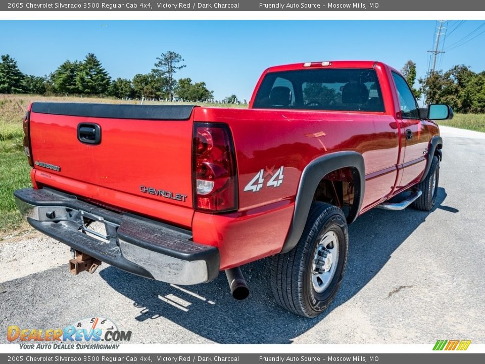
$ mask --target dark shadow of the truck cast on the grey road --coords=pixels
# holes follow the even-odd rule
[[[458,212],[442,206],[446,199],[443,188],[439,189],[437,198],[434,209]],[[427,215],[428,212],[411,208],[403,211],[373,209],[350,225],[344,281],[329,309],[316,319],[304,319],[275,304],[269,286],[268,259],[242,268],[251,290],[250,297],[244,301],[231,297],[222,273],[213,282],[188,287],[144,279],[114,267],[103,269],[100,275],[113,289],[134,301],[133,305],[139,308],[134,319],[139,322],[165,317],[217,343],[285,344],[313,328],[359,292]],[[382,295],[386,296],[387,292]]]

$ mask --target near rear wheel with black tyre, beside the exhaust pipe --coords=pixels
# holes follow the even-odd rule
[[[314,202],[297,246],[272,258],[271,287],[278,304],[305,317],[323,312],[344,276],[348,246],[342,210]]]

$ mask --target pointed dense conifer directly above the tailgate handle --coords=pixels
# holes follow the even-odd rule
[[[79,92],[87,95],[102,95],[108,92],[111,78],[93,53],[88,53],[79,64],[76,74]]]

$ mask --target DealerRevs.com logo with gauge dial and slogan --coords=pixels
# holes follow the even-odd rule
[[[131,339],[131,331],[120,331],[104,317],[87,317],[64,329],[31,329],[11,325],[7,340],[21,349],[118,349]]]

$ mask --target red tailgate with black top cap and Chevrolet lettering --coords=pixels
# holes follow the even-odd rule
[[[89,200],[106,204],[108,195],[119,192],[119,204],[113,207],[120,210],[146,213],[142,206],[153,209],[156,203],[157,216],[164,219],[164,210],[184,208],[185,218],[178,222],[189,225],[193,214],[192,109],[34,103],[30,135],[35,168],[44,177],[51,176],[52,187],[66,192],[80,195],[79,183],[84,183],[81,196]],[[99,143],[94,134],[100,136]],[[49,184],[49,179],[47,183],[41,179]],[[71,191],[68,180],[77,184],[76,191]],[[127,207],[123,204],[127,195],[140,200]],[[113,201],[117,199],[109,203]]]

